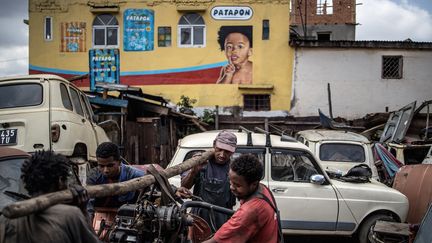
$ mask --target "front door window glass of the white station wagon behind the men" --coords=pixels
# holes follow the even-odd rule
[[[278,149],[271,151],[271,178],[275,181],[309,182],[318,174],[310,154]]]

